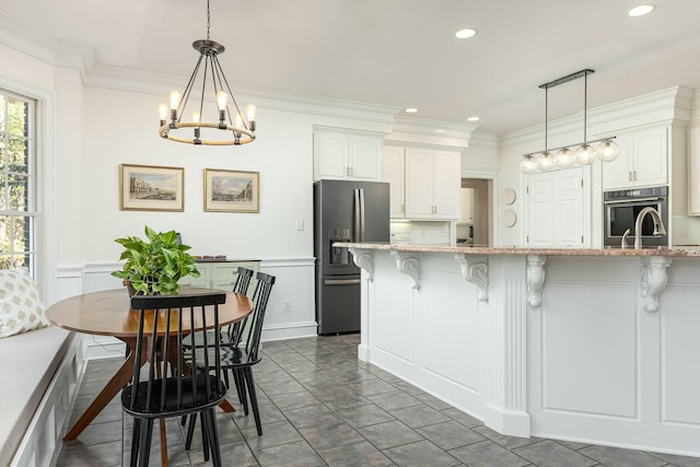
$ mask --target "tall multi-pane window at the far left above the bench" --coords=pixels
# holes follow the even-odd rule
[[[0,90],[0,268],[34,276],[34,102]]]

